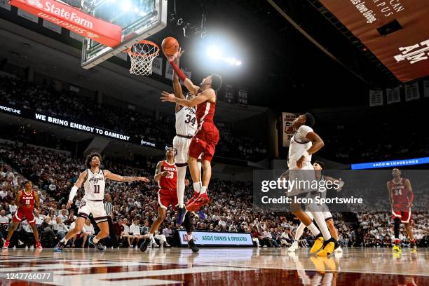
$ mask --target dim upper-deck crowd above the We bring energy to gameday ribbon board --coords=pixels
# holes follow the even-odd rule
[[[76,123],[112,130],[140,142],[156,142],[159,146],[172,144],[175,136],[175,117],[162,114],[157,118],[132,109],[99,104],[95,97],[72,91],[57,91],[36,86],[24,79],[0,76],[0,104],[18,109],[32,109],[41,114]],[[163,126],[163,128],[159,128]],[[266,144],[250,135],[234,135],[231,128],[219,126],[220,140],[217,156],[260,161],[266,158]],[[135,138],[133,138],[135,137]]]

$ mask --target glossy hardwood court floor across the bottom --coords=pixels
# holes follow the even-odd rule
[[[308,249],[186,248],[6,250],[0,285],[429,285],[429,250],[393,255],[385,248],[346,248],[330,258]],[[7,273],[53,271],[53,282],[8,280]]]

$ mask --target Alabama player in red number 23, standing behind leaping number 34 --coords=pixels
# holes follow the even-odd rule
[[[159,161],[156,165],[155,181],[158,182],[158,217],[152,224],[149,235],[140,245],[140,250],[146,251],[149,243],[154,239],[154,233],[165,219],[167,207],[172,205],[173,210],[177,206],[177,167],[175,165],[175,149],[169,148],[165,152],[165,160]],[[192,237],[192,224],[189,219],[189,212],[184,217],[184,227],[188,233],[188,246],[193,252],[198,252],[198,247]]]

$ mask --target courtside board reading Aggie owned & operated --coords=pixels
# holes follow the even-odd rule
[[[253,247],[252,235],[250,233],[221,233],[212,231],[193,231],[193,240],[196,245],[205,246],[247,246]],[[186,231],[179,231],[180,244],[188,245]]]

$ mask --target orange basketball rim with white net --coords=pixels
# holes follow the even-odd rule
[[[147,76],[152,74],[152,62],[159,55],[159,47],[151,41],[139,41],[126,49],[131,58],[130,74]]]

